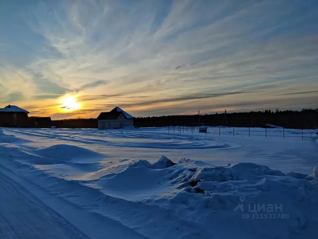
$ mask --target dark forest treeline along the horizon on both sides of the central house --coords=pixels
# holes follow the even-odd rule
[[[196,115],[164,115],[159,117],[136,117],[136,127],[165,126],[229,126],[229,127],[264,127],[266,124],[294,129],[314,129],[318,127],[318,109],[301,111],[251,111]],[[97,128],[97,119],[53,120],[52,125],[58,128]]]

